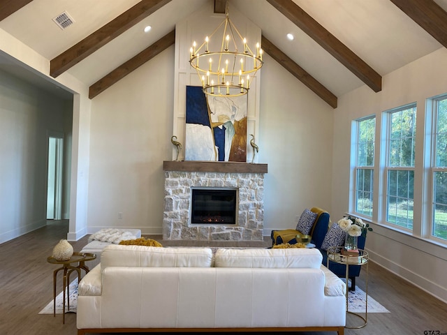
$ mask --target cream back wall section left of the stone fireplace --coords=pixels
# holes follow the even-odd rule
[[[89,232],[161,233],[163,161],[172,159],[173,147],[173,62],[169,47],[92,100]]]

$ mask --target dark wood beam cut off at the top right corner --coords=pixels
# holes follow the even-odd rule
[[[447,13],[433,0],[390,0],[423,27],[441,45],[447,47]]]

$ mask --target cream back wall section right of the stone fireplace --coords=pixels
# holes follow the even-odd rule
[[[264,57],[259,163],[265,174],[265,235],[296,226],[306,208],[330,211],[335,111],[274,59]]]

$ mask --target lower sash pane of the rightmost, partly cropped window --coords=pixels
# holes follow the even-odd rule
[[[447,172],[434,172],[432,236],[447,240]]]

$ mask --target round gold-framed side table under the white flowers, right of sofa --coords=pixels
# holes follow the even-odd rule
[[[345,328],[348,329],[360,329],[367,325],[368,320],[368,262],[369,262],[369,256],[368,253],[362,249],[358,249],[358,255],[345,255],[343,254],[343,247],[342,246],[331,246],[328,248],[328,264],[327,267],[329,269],[329,262],[335,262],[339,264],[346,265],[346,313],[353,314],[358,316],[360,319],[363,320],[363,325],[360,325],[358,327],[349,327],[345,326]],[[362,315],[358,313],[354,313],[349,311],[348,308],[348,294],[349,294],[349,265],[366,265],[366,281],[365,281],[365,294],[366,294],[366,303],[365,303],[365,318],[362,317]]]

